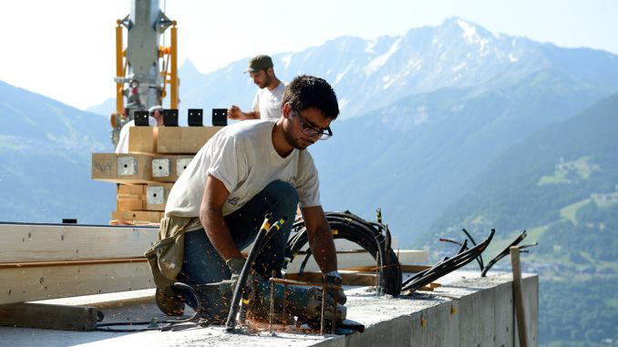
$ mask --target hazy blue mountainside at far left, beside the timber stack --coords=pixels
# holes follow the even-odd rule
[[[0,220],[107,224],[115,189],[90,179],[108,121],[0,81]]]

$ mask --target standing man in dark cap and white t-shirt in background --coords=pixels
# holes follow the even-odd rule
[[[242,112],[233,105],[228,108],[230,119],[277,119],[281,117],[281,100],[285,84],[274,76],[273,59],[270,56],[253,56],[249,59],[249,73],[253,83],[260,89],[253,97],[252,111]]]

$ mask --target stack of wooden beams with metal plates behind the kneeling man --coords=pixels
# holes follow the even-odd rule
[[[110,223],[159,223],[172,185],[221,128],[131,127],[129,153],[93,153],[92,179],[117,183]]]

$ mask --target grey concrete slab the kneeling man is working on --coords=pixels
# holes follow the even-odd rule
[[[228,334],[222,327],[180,332],[64,332],[0,327],[3,342],[12,347],[46,346],[484,346],[513,345],[512,291],[509,274],[479,278],[479,271],[458,271],[441,279],[435,291],[410,297],[376,297],[371,288],[346,288],[348,319],[366,325],[366,332],[348,336],[319,336],[298,332]],[[524,275],[523,288],[530,312],[530,345],[538,344],[538,277]],[[121,300],[120,300],[121,299]],[[151,291],[107,294],[54,301],[95,304],[105,321],[165,319],[152,301]],[[101,303],[101,301],[107,301]],[[530,306],[530,308],[529,308]],[[191,313],[191,312],[189,312]],[[529,313],[527,313],[528,315]],[[537,317],[535,320],[534,318]]]

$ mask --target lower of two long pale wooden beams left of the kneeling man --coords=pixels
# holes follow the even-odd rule
[[[150,288],[146,261],[0,270],[0,304]]]

